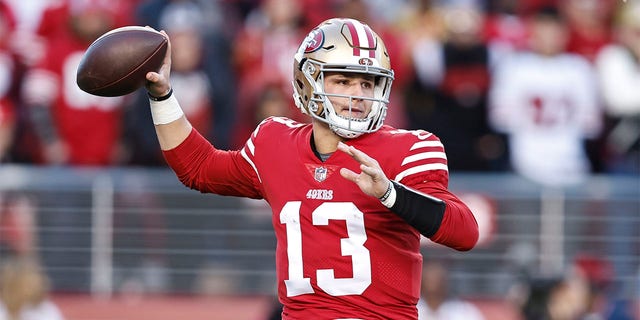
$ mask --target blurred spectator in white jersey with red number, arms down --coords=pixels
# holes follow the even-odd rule
[[[548,185],[581,181],[591,171],[585,141],[602,125],[595,72],[566,53],[567,27],[555,7],[529,20],[528,50],[496,65],[490,124],[508,135],[515,172]]]

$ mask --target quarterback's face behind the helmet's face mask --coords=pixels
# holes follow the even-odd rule
[[[345,118],[364,119],[371,111],[375,78],[358,73],[325,73],[324,91],[327,94],[348,95],[329,96],[336,113]]]

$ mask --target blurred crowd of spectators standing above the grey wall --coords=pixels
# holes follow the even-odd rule
[[[550,184],[640,172],[636,0],[3,0],[0,156],[163,165],[144,93],[75,84],[83,50],[124,25],[170,34],[177,97],[215,145],[241,146],[269,115],[308,121],[290,97],[292,55],[333,16],[382,36],[396,76],[387,123],[437,134],[452,171]]]

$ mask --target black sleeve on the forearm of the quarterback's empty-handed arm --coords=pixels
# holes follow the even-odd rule
[[[391,206],[391,211],[425,237],[433,236],[442,223],[446,209],[445,202],[401,183],[395,181],[391,181],[391,183],[396,190],[396,201]]]

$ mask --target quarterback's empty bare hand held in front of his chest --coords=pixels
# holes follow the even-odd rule
[[[378,161],[355,147],[348,146],[342,142],[338,143],[338,150],[352,156],[360,163],[360,170],[362,170],[360,173],[355,173],[347,168],[341,168],[340,175],[357,184],[365,194],[376,198],[382,197],[391,181],[382,171]]]

